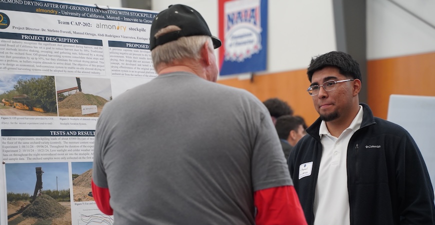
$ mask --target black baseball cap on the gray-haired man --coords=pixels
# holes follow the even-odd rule
[[[158,30],[168,25],[176,25],[181,28],[181,30],[166,33],[158,38],[154,37]],[[207,23],[199,12],[183,4],[169,5],[167,9],[159,12],[151,23],[151,33],[149,38],[150,50],[158,45],[177,40],[182,36],[195,35],[210,36],[214,48],[218,48],[222,45],[222,42],[217,37],[211,35]]]

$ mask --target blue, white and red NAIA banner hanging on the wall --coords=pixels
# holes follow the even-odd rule
[[[220,75],[266,69],[267,0],[219,0]]]

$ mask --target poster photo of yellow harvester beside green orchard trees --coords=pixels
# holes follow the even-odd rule
[[[1,74],[0,115],[57,116],[54,76]]]

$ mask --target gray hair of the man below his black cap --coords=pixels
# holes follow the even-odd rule
[[[160,29],[155,37],[159,37],[165,33],[180,30],[178,26],[170,25]],[[181,60],[185,58],[199,59],[200,49],[205,41],[208,40],[208,48],[213,50],[211,38],[206,35],[197,36],[183,36],[177,40],[167,42],[162,45],[156,46],[151,51],[152,64],[154,69],[160,63],[170,64],[174,60]]]

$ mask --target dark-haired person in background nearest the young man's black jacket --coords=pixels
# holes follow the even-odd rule
[[[283,115],[276,119],[275,128],[286,159],[293,146],[306,134],[304,125],[300,116]]]

